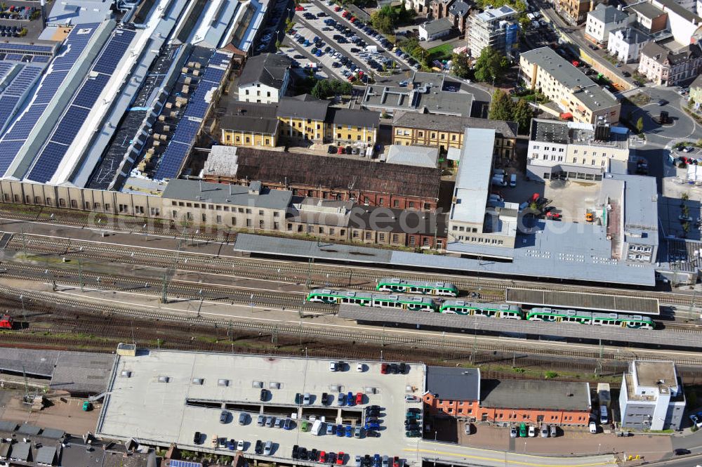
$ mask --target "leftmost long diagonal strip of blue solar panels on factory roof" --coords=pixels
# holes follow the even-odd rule
[[[66,37],[59,55],[54,58],[50,69],[42,77],[32,104],[20,114],[20,117],[0,138],[0,175],[4,175],[12,164],[29,133],[37,124],[39,117],[46,110],[46,105],[53,100],[56,91],[66,79],[69,70],[78,62],[79,56],[95,34],[95,28],[98,26],[98,23],[76,25]],[[0,51],[2,47],[8,45],[15,44],[2,44]],[[15,48],[15,50],[17,49]],[[26,49],[20,48],[20,50]],[[49,46],[32,46],[32,50],[51,53],[53,49]]]

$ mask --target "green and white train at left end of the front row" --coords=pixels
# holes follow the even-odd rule
[[[436,311],[432,298],[408,295],[369,294],[349,290],[314,289],[307,294],[307,301],[318,303],[355,303],[378,308],[402,308],[411,311]]]

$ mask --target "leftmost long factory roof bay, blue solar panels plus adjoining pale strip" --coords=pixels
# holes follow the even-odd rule
[[[64,114],[68,101],[83,82],[89,65],[114,24],[114,21],[107,21],[76,25],[68,34],[58,55],[41,77],[29,105],[0,137],[2,176],[20,179],[31,168],[48,132],[53,130],[56,121]],[[71,124],[75,126],[75,120]],[[47,161],[41,164],[44,162]],[[48,162],[58,166],[60,160]]]

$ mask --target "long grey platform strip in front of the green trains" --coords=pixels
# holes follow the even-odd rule
[[[627,346],[666,346],[702,349],[702,339],[696,333],[665,331],[659,329],[627,329],[622,327],[588,326],[579,323],[547,323],[540,321],[501,320],[484,316],[446,315],[443,313],[392,310],[343,303],[339,317],[359,324],[417,327],[458,333],[498,332],[520,334],[534,338],[571,338],[597,343],[627,343]]]

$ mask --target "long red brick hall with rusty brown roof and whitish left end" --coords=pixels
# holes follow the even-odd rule
[[[204,180],[291,190],[293,196],[338,199],[366,206],[434,211],[439,200],[441,169],[381,164],[361,159],[325,157],[237,147],[231,161]]]

